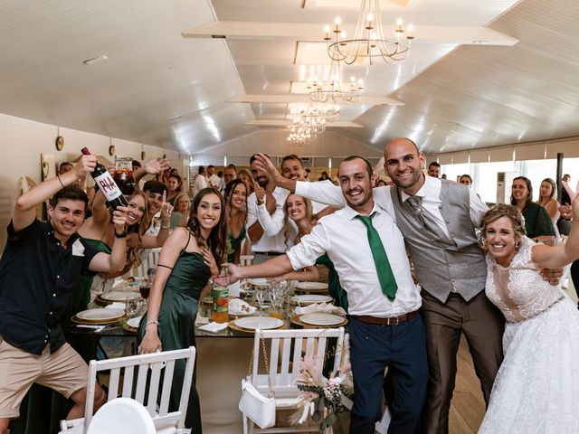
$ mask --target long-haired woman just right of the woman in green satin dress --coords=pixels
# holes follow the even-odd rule
[[[233,179],[225,186],[225,218],[227,220],[227,262],[239,265],[242,241],[247,222],[247,185]]]

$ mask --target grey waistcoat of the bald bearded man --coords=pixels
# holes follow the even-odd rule
[[[470,222],[469,190],[441,180],[441,214],[451,241],[435,240],[402,206],[400,190],[392,187],[396,225],[402,231],[422,288],[442,303],[452,291],[465,300],[485,288],[487,265]]]

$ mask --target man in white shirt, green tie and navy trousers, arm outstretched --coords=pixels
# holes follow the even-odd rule
[[[347,292],[354,407],[350,432],[375,432],[382,415],[384,369],[389,369],[390,434],[412,433],[420,418],[428,367],[421,298],[413,283],[403,237],[394,219],[375,205],[373,168],[351,156],[339,166],[346,207],[319,220],[285,255],[251,267],[227,265],[222,284],[275,277],[313,265],[324,253]],[[285,178],[284,178],[285,179]],[[356,248],[353,248],[356,246]]]

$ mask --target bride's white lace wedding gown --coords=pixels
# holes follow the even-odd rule
[[[579,311],[521,243],[510,267],[487,255],[486,293],[507,318],[505,359],[479,433],[579,433]]]

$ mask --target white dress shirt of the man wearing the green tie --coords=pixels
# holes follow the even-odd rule
[[[310,234],[301,238],[287,255],[293,269],[303,269],[327,253],[340,284],[347,292],[348,313],[380,318],[401,316],[421,307],[422,299],[410,273],[402,233],[393,218],[374,206],[372,219],[384,244],[398,289],[394,301],[384,296],[364,222],[349,206],[319,220]]]

